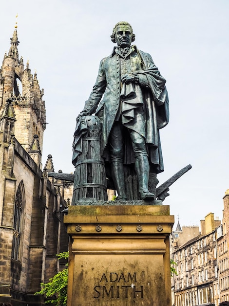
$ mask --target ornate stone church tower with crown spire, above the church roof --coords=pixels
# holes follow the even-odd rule
[[[45,101],[42,100],[37,73],[31,74],[29,63],[25,68],[22,57],[19,60],[18,33],[14,30],[8,55],[5,53],[0,68],[0,111],[8,99],[12,99],[15,111],[15,137],[28,152],[36,136],[42,154],[43,132],[46,128]],[[19,86],[20,85],[20,86]],[[20,92],[20,88],[22,88]]]

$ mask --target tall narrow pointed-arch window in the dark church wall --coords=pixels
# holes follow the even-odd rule
[[[23,212],[23,202],[24,202],[24,188],[23,183],[20,182],[14,207],[14,236],[13,236],[13,246],[12,246],[12,258],[16,261],[19,260],[19,248],[21,239],[21,225],[22,225],[22,212]]]

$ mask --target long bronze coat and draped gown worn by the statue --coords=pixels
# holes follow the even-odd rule
[[[154,173],[160,173],[164,171],[164,167],[159,130],[169,121],[166,80],[160,75],[150,54],[138,50],[134,45],[130,57],[141,59],[141,68],[134,68],[133,65],[131,71],[138,75],[138,84],[130,83],[121,86],[120,57],[114,48],[113,53],[100,62],[95,86],[85,103],[84,110],[90,114],[95,113],[102,121],[101,155],[107,164],[110,161],[109,135],[118,116],[123,126],[138,132],[145,138],[151,169]],[[143,113],[143,116],[140,113]],[[81,153],[80,139],[85,131],[86,127],[82,127],[79,121],[76,122],[73,143],[74,165],[77,155]],[[128,133],[124,139],[123,163],[124,165],[134,164]]]

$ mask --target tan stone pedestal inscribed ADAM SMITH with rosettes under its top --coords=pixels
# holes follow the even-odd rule
[[[169,206],[76,205],[64,222],[68,306],[171,306]]]

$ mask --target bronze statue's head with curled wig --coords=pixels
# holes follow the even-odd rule
[[[125,21],[116,23],[111,40],[113,43],[117,43],[118,46],[130,46],[135,41],[135,34],[130,23]]]

